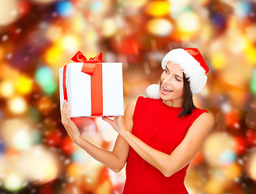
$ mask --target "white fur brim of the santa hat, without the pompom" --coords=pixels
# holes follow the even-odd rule
[[[203,90],[203,87],[207,83],[207,75],[200,63],[186,52],[182,48],[176,48],[167,53],[162,61],[162,68],[165,69],[165,65],[172,61],[181,66],[186,78],[190,81],[190,89],[192,94],[197,94]]]

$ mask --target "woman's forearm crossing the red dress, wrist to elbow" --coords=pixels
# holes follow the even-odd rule
[[[124,131],[121,135],[141,158],[153,167],[156,167],[163,175],[169,176],[173,174],[171,167],[172,158],[169,154],[164,154],[151,148],[151,146],[147,146],[147,144],[128,131]]]

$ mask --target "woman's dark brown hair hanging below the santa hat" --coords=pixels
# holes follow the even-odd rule
[[[192,110],[195,108],[194,102],[193,102],[193,95],[190,90],[190,81],[188,78],[186,78],[185,74],[183,74],[183,100],[182,100],[182,111],[178,115],[178,117],[181,116],[189,116],[192,112]],[[162,82],[160,82],[160,85]]]

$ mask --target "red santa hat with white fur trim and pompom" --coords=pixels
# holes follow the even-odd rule
[[[175,48],[167,53],[162,61],[162,68],[171,61],[181,66],[186,78],[190,81],[192,94],[198,94],[207,83],[209,71],[206,61],[203,59],[198,48]],[[160,99],[160,85],[152,84],[147,87],[147,95],[151,99]]]

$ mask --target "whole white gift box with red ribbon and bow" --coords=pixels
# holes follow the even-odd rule
[[[124,114],[122,63],[103,62],[102,53],[89,60],[78,52],[59,69],[60,107],[69,102],[70,117]]]

